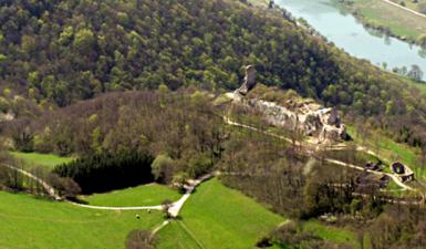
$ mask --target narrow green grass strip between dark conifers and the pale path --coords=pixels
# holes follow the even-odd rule
[[[90,205],[110,207],[156,206],[160,205],[165,199],[175,201],[179,198],[180,194],[178,191],[158,184],[81,197]]]

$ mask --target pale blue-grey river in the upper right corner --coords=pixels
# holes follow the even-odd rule
[[[330,0],[276,0],[295,18],[303,18],[337,48],[359,59],[371,61],[387,70],[413,64],[426,74],[426,51],[395,38],[380,35],[364,28],[352,14],[343,13]],[[426,76],[426,75],[425,75]]]

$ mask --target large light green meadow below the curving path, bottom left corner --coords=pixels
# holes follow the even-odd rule
[[[122,249],[131,230],[162,220],[159,211],[93,210],[0,191],[2,249]]]

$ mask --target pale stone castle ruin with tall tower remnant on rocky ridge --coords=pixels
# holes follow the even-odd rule
[[[337,110],[326,108],[313,101],[288,100],[285,106],[259,98],[245,98],[256,86],[256,70],[252,65],[246,69],[245,81],[235,91],[232,98],[260,111],[268,123],[290,131],[301,131],[314,137],[318,143],[330,143],[346,139],[346,128],[341,123]]]

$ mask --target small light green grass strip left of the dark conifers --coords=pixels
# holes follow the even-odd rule
[[[30,166],[45,166],[48,168],[53,168],[56,165],[70,163],[74,158],[72,157],[61,157],[52,154],[39,154],[39,153],[10,153],[17,159],[22,159],[25,164]]]

